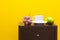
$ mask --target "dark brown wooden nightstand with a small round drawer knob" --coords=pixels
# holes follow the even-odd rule
[[[57,40],[57,26],[19,26],[19,40]]]

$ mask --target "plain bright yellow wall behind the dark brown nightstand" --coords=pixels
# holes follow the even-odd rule
[[[0,40],[18,40],[18,23],[23,16],[32,17],[37,14],[55,19],[60,40],[59,0],[0,0]]]

